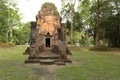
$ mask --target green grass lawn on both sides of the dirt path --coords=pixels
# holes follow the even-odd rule
[[[24,64],[26,46],[0,48],[0,80],[41,80],[41,65]],[[57,67],[55,80],[120,80],[120,52],[72,51],[72,64]]]

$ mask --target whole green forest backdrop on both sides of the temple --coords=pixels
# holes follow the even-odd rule
[[[119,0],[61,0],[67,43],[120,48]],[[77,10],[75,10],[75,4]],[[30,22],[21,22],[17,0],[0,0],[0,45],[29,43]]]

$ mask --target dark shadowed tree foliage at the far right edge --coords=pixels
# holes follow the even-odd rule
[[[120,47],[120,1],[113,0],[108,3],[109,8],[104,11],[104,15],[100,23],[104,30],[104,40],[110,47]]]

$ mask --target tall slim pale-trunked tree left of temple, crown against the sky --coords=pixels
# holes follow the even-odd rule
[[[21,17],[18,8],[16,7],[17,2],[15,0],[8,0],[7,5],[9,6],[8,8],[8,26],[9,26],[8,33],[10,33],[9,40],[10,43],[13,43],[13,28],[19,27]]]

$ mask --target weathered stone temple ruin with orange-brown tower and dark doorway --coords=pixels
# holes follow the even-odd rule
[[[25,63],[65,64],[71,62],[67,55],[71,54],[66,47],[65,26],[53,3],[44,3],[31,22],[30,46],[24,54],[29,58]]]

